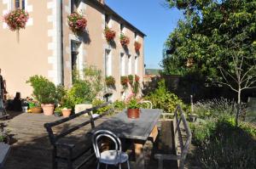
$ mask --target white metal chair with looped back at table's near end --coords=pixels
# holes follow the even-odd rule
[[[100,138],[103,137],[110,138],[115,145],[115,149],[101,152],[99,149],[99,144],[101,144]],[[106,169],[108,168],[108,165],[119,165],[119,169],[121,169],[121,164],[124,162],[127,162],[128,169],[130,169],[128,161],[129,156],[122,152],[120,139],[113,132],[107,130],[98,130],[94,132],[92,137],[92,144],[97,158],[97,169],[100,168],[101,163],[106,164]]]

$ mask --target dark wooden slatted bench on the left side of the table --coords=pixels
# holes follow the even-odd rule
[[[45,123],[44,127],[46,128],[48,135],[49,135],[49,141],[52,145],[52,168],[58,168],[58,162],[64,162],[67,164],[68,169],[73,169],[73,163],[77,160],[81,160],[81,157],[83,155],[86,155],[84,160],[82,162],[79,162],[79,165],[76,165],[76,169],[79,169],[81,166],[84,166],[84,164],[87,161],[90,161],[92,157],[94,157],[93,153],[93,147],[91,144],[91,133],[84,131],[83,140],[79,140],[78,142],[70,144],[70,140],[68,141],[67,135],[71,135],[73,132],[79,130],[81,127],[85,127],[86,125],[90,126],[90,129],[95,127],[95,121],[99,118],[102,118],[104,115],[108,115],[110,112],[113,112],[113,108],[110,110],[102,113],[102,115],[97,115],[96,117],[93,117],[91,114],[92,111],[100,109],[102,107],[107,106],[111,102],[107,102],[105,104],[97,105],[96,107],[84,110],[79,112],[78,114],[70,115],[69,117],[63,118],[58,121]],[[60,133],[54,133],[53,127],[57,127],[59,125],[63,125],[63,123],[67,121],[71,121],[75,118],[78,118],[81,115],[88,115],[89,119],[85,119],[82,123],[79,125],[75,125],[73,127],[70,127],[67,130],[64,130]],[[65,127],[65,126],[64,126]],[[65,139],[66,138],[66,139]],[[88,155],[87,155],[88,154]]]

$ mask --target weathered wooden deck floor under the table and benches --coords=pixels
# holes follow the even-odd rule
[[[9,113],[11,118],[8,121],[1,121],[6,125],[5,129],[9,130],[12,135],[11,151],[5,164],[5,169],[49,169],[51,168],[51,146],[49,138],[44,128],[44,123],[59,120],[61,117],[54,115],[46,116],[43,114],[29,113]],[[61,132],[75,124],[79,124],[88,117],[82,116],[73,121],[66,122],[63,126],[54,128],[54,132]],[[96,126],[103,121],[108,120],[108,117],[102,117],[96,121]],[[82,138],[84,133],[90,130],[90,125],[73,132],[68,139],[71,143]],[[152,148],[153,144],[147,142],[144,148],[146,155],[147,168],[156,169],[157,161],[153,160]],[[84,165],[83,169],[96,168],[95,161],[89,165]],[[131,162],[131,168],[132,167]],[[168,166],[170,167],[170,166]],[[63,165],[59,168],[65,168]],[[105,167],[103,167],[105,168]],[[111,167],[109,167],[111,168]],[[167,168],[167,166],[166,166]],[[174,167],[175,168],[175,167]]]

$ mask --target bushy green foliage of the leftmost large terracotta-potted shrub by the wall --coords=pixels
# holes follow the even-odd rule
[[[31,76],[26,83],[31,84],[32,95],[40,104],[55,104],[56,99],[59,99],[55,84],[44,76]]]

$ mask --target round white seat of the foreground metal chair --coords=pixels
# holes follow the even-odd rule
[[[115,165],[124,163],[125,161],[128,161],[128,159],[129,156],[124,152],[119,151],[117,155],[116,150],[108,150],[101,153],[99,161],[105,164]]]

